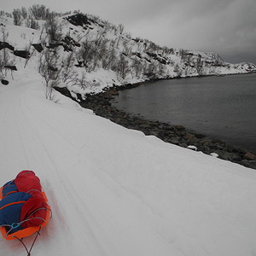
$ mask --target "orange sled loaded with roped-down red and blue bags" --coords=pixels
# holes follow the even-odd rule
[[[26,184],[26,188],[24,187],[24,184]],[[22,191],[20,191],[20,189],[22,189]],[[14,198],[16,195],[19,194],[27,195],[29,200],[11,202],[8,201],[11,200],[12,197]],[[41,229],[43,229],[44,226],[48,223],[49,218],[51,218],[51,210],[48,204],[48,199],[44,191],[42,191],[39,178],[35,176],[35,173],[32,171],[22,171],[17,175],[14,181],[3,185],[3,187],[0,189],[0,201],[2,202],[2,207],[0,207],[0,211],[6,210],[8,208],[13,210],[16,206],[22,206],[20,210],[21,213],[19,213],[19,216],[21,216],[20,223],[16,223],[16,226],[14,225],[15,227],[13,227],[13,225],[7,224],[2,224],[0,227],[2,236],[6,240],[21,240],[23,237],[31,236],[32,234],[37,233]],[[3,205],[3,201],[7,201],[9,203]],[[32,205],[34,201],[43,202],[44,208],[42,207],[40,209],[37,209],[37,206]],[[34,212],[37,212],[38,210],[41,210],[42,212],[43,209],[44,215],[40,215],[40,218],[38,217],[38,215],[35,215]],[[34,219],[27,218],[28,215],[29,217],[33,216]],[[37,223],[40,224],[37,225]],[[19,227],[19,229],[21,230],[11,230],[12,232],[10,232],[9,226],[11,226],[11,229],[14,228],[15,230],[15,228]]]

